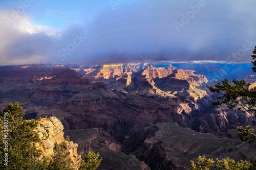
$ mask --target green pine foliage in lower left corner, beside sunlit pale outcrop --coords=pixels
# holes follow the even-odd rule
[[[3,112],[0,112],[0,157],[2,159],[0,169],[73,169],[73,162],[71,159],[66,159],[65,151],[62,151],[57,143],[54,146],[53,158],[42,157],[41,151],[35,146],[35,143],[41,142],[39,135],[35,132],[38,122],[34,119],[23,120],[22,110],[18,103],[10,103]],[[5,138],[8,138],[7,152]],[[65,142],[61,145],[67,150]],[[8,153],[8,166],[3,162],[6,153]]]

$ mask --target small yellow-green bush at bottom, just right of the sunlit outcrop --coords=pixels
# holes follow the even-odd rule
[[[82,160],[79,167],[80,170],[95,170],[100,165],[102,158],[99,159],[99,153],[89,152],[88,155],[82,155],[82,158],[87,162]]]

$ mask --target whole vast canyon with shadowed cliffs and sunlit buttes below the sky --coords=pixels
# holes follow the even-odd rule
[[[55,116],[78,155],[99,152],[101,169],[188,169],[198,155],[252,159],[252,146],[233,130],[256,120],[211,105],[218,94],[207,85],[223,80],[229,65],[183,65],[2,66],[0,109],[19,102],[25,119]]]

